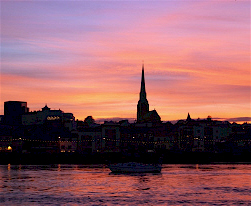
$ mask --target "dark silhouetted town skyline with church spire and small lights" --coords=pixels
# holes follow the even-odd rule
[[[1,153],[11,152],[28,155],[35,163],[33,154],[57,153],[55,157],[59,157],[62,153],[65,156],[60,157],[69,158],[68,162],[72,163],[75,159],[70,154],[94,155],[95,161],[100,161],[103,156],[116,159],[124,155],[127,160],[127,157],[156,151],[165,154],[167,161],[174,159],[176,163],[250,161],[251,124],[231,124],[213,120],[211,116],[196,120],[190,113],[177,123],[162,122],[155,109],[149,110],[144,72],[142,65],[137,122],[134,123],[121,120],[98,124],[92,116],[75,122],[72,113],[52,110],[47,105],[29,112],[27,102],[4,102],[4,115],[0,115],[0,160],[5,159]],[[82,161],[81,155],[76,157]],[[169,158],[170,155],[173,158]]]

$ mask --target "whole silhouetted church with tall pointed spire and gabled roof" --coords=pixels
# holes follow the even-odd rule
[[[142,65],[141,88],[137,105],[137,122],[161,122],[156,110],[149,111],[149,104],[146,98],[144,64]]]

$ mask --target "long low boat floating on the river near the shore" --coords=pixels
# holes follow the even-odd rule
[[[108,165],[109,169],[114,173],[160,173],[161,164],[144,164],[138,162],[114,163]]]

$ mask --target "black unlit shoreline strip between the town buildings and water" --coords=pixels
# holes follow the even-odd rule
[[[166,152],[158,154],[162,156],[163,164],[251,164],[251,152],[242,154],[232,153],[199,153]],[[159,158],[158,158],[159,159]],[[46,165],[46,164],[108,164],[109,162],[142,161],[157,162],[156,157],[138,158],[122,153],[0,153],[0,165]]]

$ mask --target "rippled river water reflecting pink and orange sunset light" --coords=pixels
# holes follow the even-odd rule
[[[163,165],[111,174],[102,165],[2,165],[0,205],[251,205],[251,165]]]

